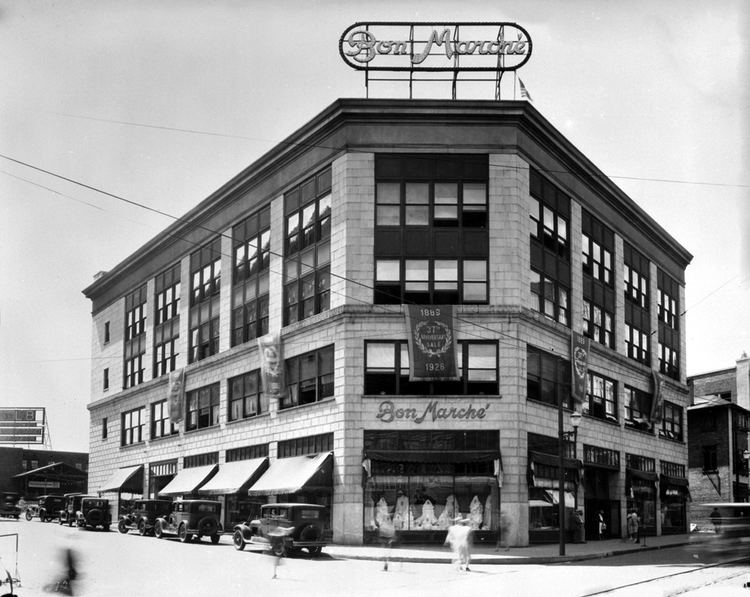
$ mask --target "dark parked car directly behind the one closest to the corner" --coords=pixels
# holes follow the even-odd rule
[[[211,500],[180,500],[172,504],[167,516],[160,516],[154,523],[154,535],[159,539],[177,535],[183,543],[196,537],[211,537],[211,543],[221,538],[221,502]]]

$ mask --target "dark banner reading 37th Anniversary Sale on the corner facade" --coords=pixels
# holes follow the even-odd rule
[[[409,379],[458,379],[452,305],[406,305],[409,332]]]

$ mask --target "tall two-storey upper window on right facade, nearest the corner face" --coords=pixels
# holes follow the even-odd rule
[[[531,168],[531,308],[570,325],[570,198]]]

